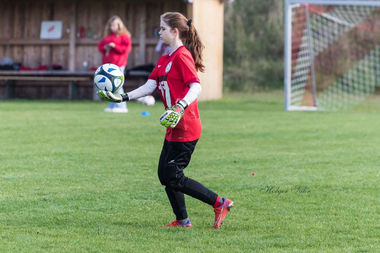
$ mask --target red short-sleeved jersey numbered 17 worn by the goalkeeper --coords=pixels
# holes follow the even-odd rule
[[[165,109],[176,104],[177,99],[185,97],[192,82],[198,82],[195,63],[191,53],[180,46],[172,55],[163,55],[157,62],[149,79],[157,81]],[[193,141],[201,136],[201,119],[195,99],[185,110],[184,115],[173,129],[166,129],[168,141]]]

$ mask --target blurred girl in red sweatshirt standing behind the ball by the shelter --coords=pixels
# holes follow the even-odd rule
[[[131,34],[123,24],[119,16],[112,16],[104,29],[104,37],[98,44],[98,50],[102,53],[102,64],[112,63],[120,67],[124,72],[127,66],[128,53],[131,51]],[[123,87],[117,94],[123,94]],[[105,112],[128,112],[127,102],[119,104],[109,102]]]

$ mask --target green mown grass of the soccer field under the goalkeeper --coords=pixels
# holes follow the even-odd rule
[[[285,112],[280,92],[199,102],[185,174],[235,204],[212,230],[191,197],[193,228],[156,227],[175,218],[157,177],[161,102],[105,107],[0,101],[0,251],[380,251],[377,111]]]

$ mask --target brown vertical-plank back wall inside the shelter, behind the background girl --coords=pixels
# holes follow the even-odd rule
[[[154,29],[159,30],[160,15],[166,11],[186,12],[182,0],[166,1],[9,1],[0,0],[0,59],[11,57],[25,67],[38,68],[40,65],[51,67],[60,64],[64,69],[69,66],[70,5],[75,5],[76,31],[83,26],[92,29],[92,37],[76,39],[75,69],[82,69],[83,61],[89,62],[89,68],[101,65],[101,55],[97,42],[103,36],[109,17],[118,15],[131,32],[133,49],[128,60],[128,68],[136,65],[155,63],[160,56],[155,52],[158,37],[154,38]],[[40,27],[43,20],[62,20],[62,43],[40,40]],[[144,21],[144,24],[141,23]],[[143,30],[144,29],[144,30]],[[144,36],[141,36],[144,35]],[[2,41],[7,41],[2,42]],[[23,43],[22,41],[25,41]],[[33,41],[35,43],[33,43]],[[143,42],[143,46],[139,44]],[[51,43],[51,44],[50,44]]]

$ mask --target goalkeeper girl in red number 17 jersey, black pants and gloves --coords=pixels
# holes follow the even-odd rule
[[[158,34],[162,42],[171,47],[171,53],[160,57],[146,84],[126,94],[98,91],[98,95],[107,101],[122,102],[147,96],[158,88],[166,109],[160,121],[167,127],[158,162],[158,178],[165,185],[176,215],[176,220],[163,226],[192,226],[186,211],[186,194],[214,207],[212,228],[219,228],[233,202],[221,198],[203,184],[186,177],[183,172],[201,136],[196,100],[201,93],[201,85],[196,72],[203,72],[205,68],[202,63],[204,46],[192,20],[187,20],[183,14],[165,13],[160,20]]]

